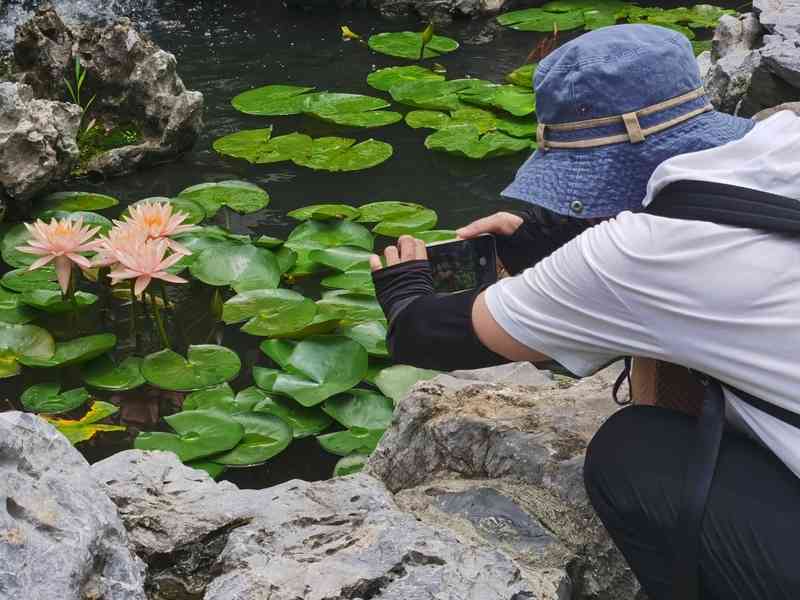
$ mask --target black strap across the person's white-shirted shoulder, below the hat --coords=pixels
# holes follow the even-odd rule
[[[656,195],[645,212],[800,235],[799,200],[726,183],[673,182]]]

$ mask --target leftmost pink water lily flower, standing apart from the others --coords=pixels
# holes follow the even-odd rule
[[[34,223],[25,223],[25,227],[30,232],[31,239],[27,245],[19,246],[17,250],[40,257],[28,270],[33,271],[55,261],[58,285],[66,294],[73,263],[83,269],[91,268],[89,259],[80,253],[97,249],[97,241],[92,241],[92,238],[100,228],[84,225],[83,218],[52,219],[50,223],[37,219]]]

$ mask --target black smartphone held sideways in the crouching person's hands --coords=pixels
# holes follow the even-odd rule
[[[437,292],[471,290],[497,281],[497,249],[492,235],[436,242],[427,250]]]

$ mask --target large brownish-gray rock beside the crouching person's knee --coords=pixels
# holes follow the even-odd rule
[[[423,522],[513,558],[537,597],[628,600],[638,583],[582,480],[586,444],[616,409],[617,372],[573,385],[418,384],[366,472]]]

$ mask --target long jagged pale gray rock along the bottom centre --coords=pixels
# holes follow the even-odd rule
[[[513,560],[420,523],[367,475],[239,490],[137,450],[93,473],[149,564],[151,600],[539,598]]]

